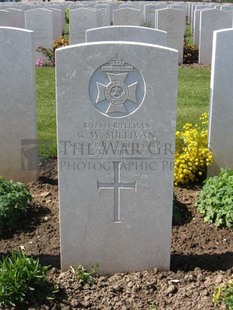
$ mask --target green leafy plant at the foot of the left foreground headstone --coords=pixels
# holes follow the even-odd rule
[[[0,177],[0,235],[5,229],[17,228],[18,221],[27,213],[31,199],[25,184]]]

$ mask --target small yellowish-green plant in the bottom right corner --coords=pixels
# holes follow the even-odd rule
[[[213,295],[214,306],[224,304],[227,309],[233,310],[233,281],[229,281],[223,287],[216,287]]]

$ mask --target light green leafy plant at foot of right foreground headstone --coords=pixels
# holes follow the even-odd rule
[[[218,176],[204,181],[196,207],[205,222],[233,227],[233,170],[221,169]]]

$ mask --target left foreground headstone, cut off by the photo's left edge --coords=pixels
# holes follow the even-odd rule
[[[36,181],[37,130],[33,32],[0,27],[0,175]]]

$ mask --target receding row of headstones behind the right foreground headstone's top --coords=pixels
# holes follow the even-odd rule
[[[213,31],[233,27],[233,5],[187,3],[186,15],[191,24],[193,42],[199,48],[200,64],[211,64]]]

